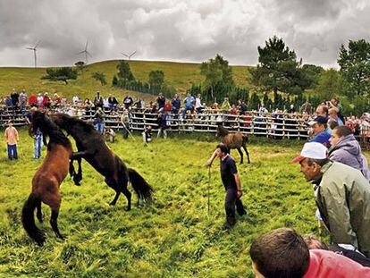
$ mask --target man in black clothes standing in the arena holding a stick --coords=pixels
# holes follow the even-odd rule
[[[226,223],[225,227],[230,229],[235,225],[235,206],[239,215],[246,215],[247,212],[241,203],[240,197],[243,194],[240,187],[240,177],[235,161],[228,153],[228,148],[223,145],[217,145],[214,153],[207,161],[207,166],[211,167],[214,158],[220,157],[220,173],[223,181],[223,186],[226,190],[225,211]]]

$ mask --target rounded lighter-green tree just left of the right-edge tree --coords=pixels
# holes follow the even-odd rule
[[[324,100],[330,100],[341,90],[341,76],[335,69],[329,69],[320,74],[318,85],[315,88]]]

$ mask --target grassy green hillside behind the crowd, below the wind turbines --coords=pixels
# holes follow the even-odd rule
[[[77,80],[71,80],[69,85],[63,81],[41,80],[46,74],[46,68],[0,68],[0,96],[8,96],[13,88],[21,90],[25,88],[28,94],[38,92],[49,92],[66,96],[71,99],[72,96],[94,97],[97,90],[101,91],[103,96],[112,93],[121,99],[126,94],[134,97],[142,97],[146,100],[153,99],[148,94],[129,92],[124,89],[117,89],[111,86],[114,74],[117,72],[116,65],[118,60],[91,63],[86,70],[80,74]],[[191,86],[191,82],[198,84],[203,80],[199,71],[199,63],[173,63],[173,62],[152,62],[152,61],[129,61],[131,71],[138,80],[147,81],[150,71],[160,70],[164,72],[164,80],[178,92],[183,95],[186,89]],[[248,85],[248,67],[232,66],[234,80],[240,87]],[[93,72],[104,72],[108,85],[101,86],[97,80],[91,77]]]

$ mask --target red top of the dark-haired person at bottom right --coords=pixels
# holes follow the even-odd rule
[[[304,278],[370,277],[370,267],[364,267],[348,257],[332,251],[309,250],[310,262]]]

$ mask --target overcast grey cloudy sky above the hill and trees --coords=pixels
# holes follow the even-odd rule
[[[0,66],[120,59],[256,64],[277,35],[304,63],[336,67],[349,39],[370,41],[368,0],[0,0]]]

